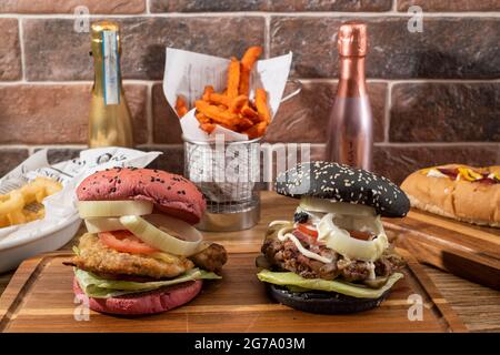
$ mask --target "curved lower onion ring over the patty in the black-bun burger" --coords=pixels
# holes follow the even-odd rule
[[[383,232],[380,219],[376,219],[379,234],[372,241],[361,241],[353,239],[348,231],[334,225],[333,214],[326,214],[318,224],[318,240],[324,241],[327,246],[340,255],[366,262],[374,262],[382,255],[389,246],[389,241]]]

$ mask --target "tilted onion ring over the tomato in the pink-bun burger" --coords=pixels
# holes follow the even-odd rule
[[[164,214],[151,214],[144,219],[124,215],[120,222],[144,243],[173,255],[191,256],[208,246],[201,243],[201,233],[191,224]]]

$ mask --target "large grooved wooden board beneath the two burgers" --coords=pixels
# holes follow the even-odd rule
[[[467,332],[447,300],[421,266],[406,251],[406,277],[376,310],[351,315],[317,315],[272,302],[256,277],[254,258],[267,224],[290,217],[297,201],[263,194],[262,221],[252,230],[206,233],[207,240],[226,245],[229,262],[223,278],[207,282],[191,303],[167,313],[118,317],[90,312],[82,318],[73,303],[72,270],[62,265],[68,251],[26,261],[0,297],[1,332]],[[409,321],[408,297],[422,297],[422,318]],[[83,317],[84,318],[84,317]]]

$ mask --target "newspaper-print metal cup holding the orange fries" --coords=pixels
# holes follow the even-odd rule
[[[247,230],[260,220],[260,138],[250,141],[184,141],[184,175],[207,199],[200,230]]]

